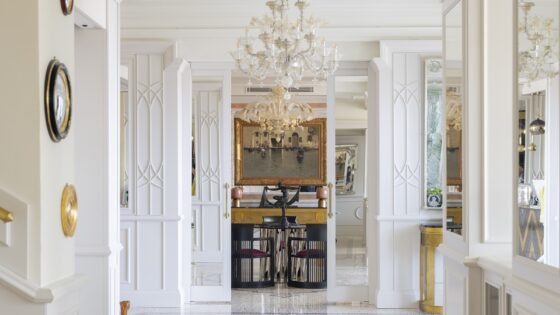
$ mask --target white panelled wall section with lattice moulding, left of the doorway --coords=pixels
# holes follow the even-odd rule
[[[176,46],[128,59],[129,205],[121,210],[121,298],[180,306],[182,286],[182,81]],[[169,56],[172,56],[169,58]]]

